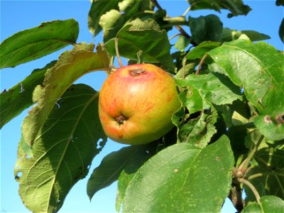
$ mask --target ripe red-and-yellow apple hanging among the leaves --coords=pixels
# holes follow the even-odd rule
[[[113,141],[150,143],[173,129],[180,108],[174,78],[151,64],[128,65],[112,72],[99,92],[99,119]]]

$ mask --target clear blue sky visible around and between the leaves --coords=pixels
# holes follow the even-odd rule
[[[179,16],[187,9],[186,1],[159,1],[160,5],[168,11],[169,16]],[[226,11],[216,13],[214,11],[197,11],[190,12],[190,16],[197,17],[214,13],[219,16],[224,27],[234,28],[237,30],[254,30],[260,33],[266,33],[271,36],[266,42],[283,50],[278,36],[278,28],[283,18],[283,7],[275,6],[275,1],[245,1],[249,4],[253,11],[248,16],[239,16],[234,18],[226,18]],[[87,13],[89,12],[89,1],[3,1],[1,0],[1,42],[27,28],[33,28],[45,21],[53,21],[57,19],[75,18],[80,24],[80,34],[77,42],[85,41],[95,44],[102,42],[102,34],[97,35],[94,39],[87,28]],[[188,28],[185,28],[188,31]],[[170,35],[175,34],[171,33]],[[173,40],[175,42],[175,40]],[[70,49],[72,47],[67,47]],[[6,68],[1,70],[1,91],[13,87],[14,84],[23,80],[32,70],[44,67],[51,60],[58,58],[63,50],[45,56],[39,60],[18,65],[15,68]],[[82,77],[78,82],[89,84],[94,89],[99,90],[104,82],[106,75],[104,72],[93,72]],[[26,116],[27,111],[23,111],[21,115],[13,119],[1,129],[1,212],[29,212],[23,206],[18,196],[18,183],[13,177],[13,166],[16,163],[16,149],[19,138],[21,137],[21,123]],[[122,145],[109,141],[102,153],[94,158],[92,170],[99,165],[100,161],[111,151],[116,151]],[[89,175],[90,175],[89,173]],[[89,175],[84,180],[72,188],[69,195],[65,199],[60,212],[115,212],[114,203],[116,198],[116,183],[110,187],[101,190],[94,195],[92,202],[87,197],[86,187]],[[228,204],[225,205],[222,212],[234,212],[234,209]]]

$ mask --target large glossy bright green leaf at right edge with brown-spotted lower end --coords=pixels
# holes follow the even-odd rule
[[[272,140],[284,138],[284,134],[278,137],[284,132],[281,121],[284,114],[284,55],[267,43],[252,43],[242,38],[224,43],[208,54],[234,84],[244,87],[246,98],[260,112],[254,123],[264,136]],[[278,134],[273,136],[274,133]]]

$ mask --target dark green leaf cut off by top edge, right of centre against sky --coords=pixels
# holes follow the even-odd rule
[[[241,0],[187,0],[191,4],[191,10],[213,9],[220,12],[221,9],[229,10],[228,18],[239,15],[246,15],[251,8]]]

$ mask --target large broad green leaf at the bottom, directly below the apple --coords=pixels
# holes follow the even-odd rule
[[[233,165],[226,136],[203,149],[190,143],[165,148],[131,180],[123,212],[220,212]]]

